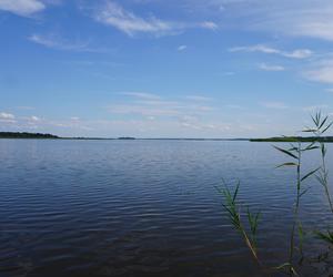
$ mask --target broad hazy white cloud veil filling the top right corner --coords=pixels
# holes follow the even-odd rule
[[[214,9],[223,4],[246,30],[333,40],[333,2],[329,0],[206,0],[204,4]]]

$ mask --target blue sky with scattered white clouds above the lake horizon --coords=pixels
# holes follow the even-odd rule
[[[299,134],[333,117],[332,14],[331,0],[0,0],[0,131]]]

